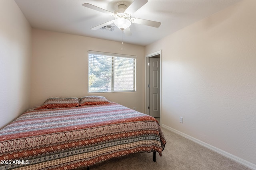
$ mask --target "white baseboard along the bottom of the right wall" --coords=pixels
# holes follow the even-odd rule
[[[164,124],[162,124],[162,127],[165,128],[165,129],[168,129],[168,130],[170,130],[170,131],[172,131],[172,132],[174,132],[174,133],[176,133],[176,134],[178,134],[178,135],[180,135],[182,137],[185,137],[186,139],[189,139],[190,141],[193,141],[193,142],[198,143],[199,145],[202,145],[202,146],[204,146],[204,147],[206,147],[206,148],[208,148],[210,150],[213,150],[214,152],[222,154],[223,156],[226,156],[227,158],[230,158],[230,159],[232,159],[232,160],[234,160],[234,161],[236,161],[236,162],[238,162],[240,164],[243,164],[244,166],[247,166],[248,168],[256,170],[256,165],[255,164],[252,164],[252,163],[250,163],[250,162],[248,162],[248,161],[246,161],[246,160],[244,160],[242,158],[234,156],[234,155],[232,155],[232,154],[230,154],[230,153],[228,153],[228,152],[226,152],[224,150],[218,149],[218,148],[216,148],[216,147],[214,147],[212,145],[209,145],[208,143],[205,143],[205,142],[200,141],[200,140],[198,140],[198,139],[196,139],[194,137],[186,135],[185,133],[177,131],[176,129],[168,127],[168,126],[166,126]]]

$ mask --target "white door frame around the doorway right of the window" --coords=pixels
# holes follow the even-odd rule
[[[149,106],[149,92],[148,92],[148,59],[150,57],[154,57],[156,55],[160,55],[160,125],[162,125],[162,50],[160,51],[156,51],[154,53],[150,53],[148,55],[145,55],[144,61],[145,61],[145,77],[144,77],[144,84],[145,84],[145,90],[144,90],[144,94],[145,94],[145,108],[144,108],[144,112],[149,115],[149,111],[148,111],[148,106]]]

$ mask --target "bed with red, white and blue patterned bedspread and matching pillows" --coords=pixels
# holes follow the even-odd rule
[[[155,118],[102,96],[49,98],[0,130],[0,170],[88,168],[133,153],[162,156],[165,144]]]

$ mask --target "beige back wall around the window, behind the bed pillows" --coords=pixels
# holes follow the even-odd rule
[[[121,37],[120,37],[121,38]],[[88,50],[137,56],[136,92],[88,94]],[[32,29],[30,106],[49,97],[105,96],[144,112],[144,47],[102,39]]]

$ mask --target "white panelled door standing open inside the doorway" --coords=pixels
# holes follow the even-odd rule
[[[160,117],[160,59],[149,59],[149,115]]]

